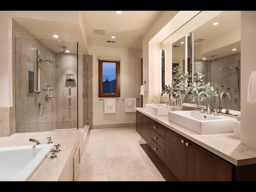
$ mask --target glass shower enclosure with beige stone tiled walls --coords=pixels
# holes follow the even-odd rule
[[[87,70],[79,44],[16,38],[15,50],[16,132],[84,128]]]

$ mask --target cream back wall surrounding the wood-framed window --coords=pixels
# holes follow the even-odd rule
[[[93,125],[135,123],[135,113],[124,112],[122,98],[141,98],[141,49],[110,48],[89,46],[89,55],[93,56]],[[104,114],[104,100],[98,97],[98,57],[120,58],[121,97],[116,100],[116,113]],[[104,98],[102,98],[104,99]],[[137,100],[137,107],[140,107]]]

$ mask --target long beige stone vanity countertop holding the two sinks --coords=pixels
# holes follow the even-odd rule
[[[146,108],[136,110],[236,166],[256,163],[256,149],[241,144],[240,139],[233,137],[233,132],[201,135],[172,123],[168,115],[157,116]]]

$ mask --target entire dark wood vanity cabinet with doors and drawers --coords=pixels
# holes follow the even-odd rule
[[[256,164],[235,166],[138,111],[136,131],[181,181],[256,180]]]

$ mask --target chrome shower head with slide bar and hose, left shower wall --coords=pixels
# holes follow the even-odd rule
[[[53,60],[41,60],[40,57],[39,57],[39,53],[40,53],[40,50],[39,49],[36,49],[37,51],[37,91],[35,91],[37,94],[40,94],[41,93],[41,96],[42,96],[42,102],[43,102],[43,110],[42,110],[42,113],[40,111],[40,107],[41,107],[41,103],[38,102],[38,108],[39,108],[39,113],[40,113],[40,116],[43,116],[44,114],[44,98],[43,98],[43,92],[42,92],[42,82],[41,82],[41,72],[40,72],[40,69],[41,69],[41,63],[43,62],[47,62],[49,61],[50,63],[54,63]]]

